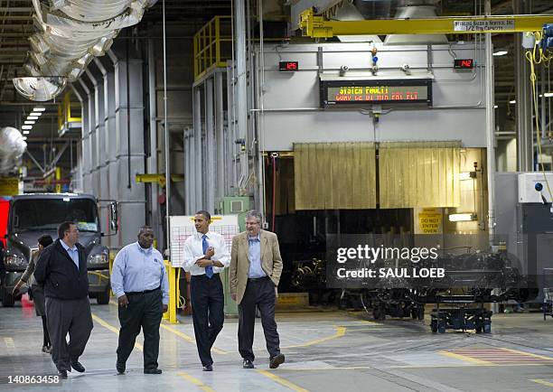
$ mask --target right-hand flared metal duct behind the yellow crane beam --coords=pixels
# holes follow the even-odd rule
[[[434,0],[399,0],[395,19],[434,19],[436,18]],[[446,44],[444,34],[390,34],[384,40],[386,45],[427,45]]]

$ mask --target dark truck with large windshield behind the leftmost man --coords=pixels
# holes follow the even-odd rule
[[[117,218],[116,218],[117,219]],[[100,304],[109,302],[109,251],[101,243],[98,201],[92,195],[76,193],[23,194],[12,198],[8,210],[5,279],[0,287],[4,306],[13,306],[19,296],[12,291],[27,265],[37,240],[42,234],[58,238],[61,222],[74,221],[80,231],[80,244],[85,247],[89,270],[89,297]],[[111,226],[117,226],[112,222]]]

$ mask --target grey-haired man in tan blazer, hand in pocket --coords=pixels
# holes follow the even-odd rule
[[[282,273],[282,258],[277,234],[261,229],[261,214],[246,214],[246,231],[232,238],[230,252],[230,294],[239,303],[239,352],[244,369],[254,369],[252,346],[256,306],[267,341],[269,368],[277,369],[285,361],[275,322],[277,286]]]

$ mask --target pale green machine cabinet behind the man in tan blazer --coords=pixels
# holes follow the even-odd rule
[[[239,230],[244,231],[246,229],[246,212],[250,210],[250,198],[249,196],[228,196],[223,197],[217,203],[217,214],[219,215],[238,215]],[[227,244],[230,247],[232,244]],[[225,272],[221,274],[221,280],[223,284],[223,291],[225,294],[225,314],[226,315],[238,315],[238,303],[232,301],[230,297],[230,282],[229,282],[229,268],[225,269]]]

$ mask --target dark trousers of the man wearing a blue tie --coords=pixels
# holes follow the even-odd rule
[[[222,283],[219,274],[211,279],[206,275],[192,275],[190,285],[196,345],[202,366],[207,366],[213,363],[211,347],[225,321]]]

